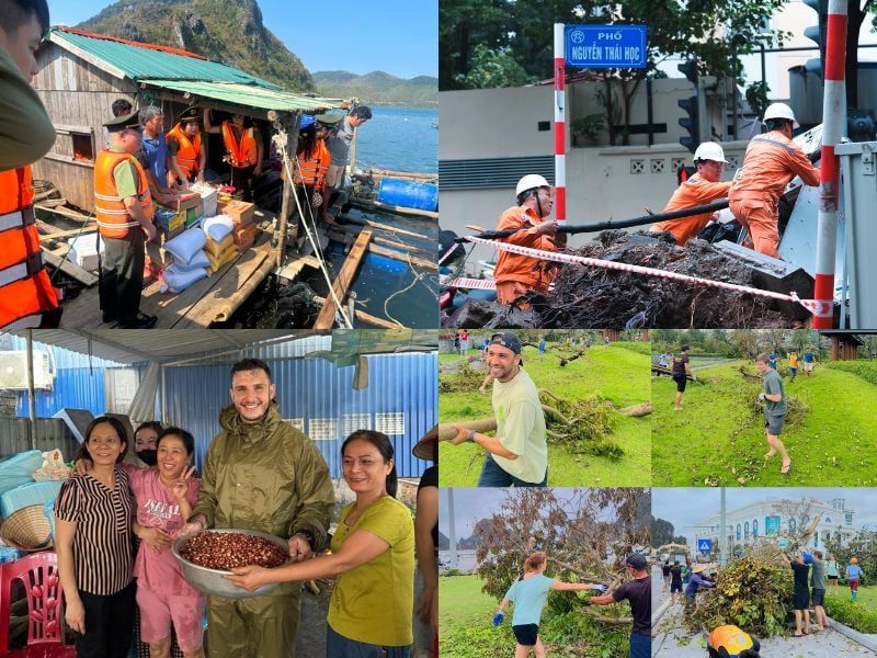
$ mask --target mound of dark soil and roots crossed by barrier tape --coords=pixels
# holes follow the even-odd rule
[[[679,247],[663,234],[604,231],[600,241],[571,253],[761,287],[758,274],[704,240]],[[782,303],[704,285],[601,268],[565,264],[547,295],[527,293],[521,310],[467,300],[443,327],[747,327],[789,328],[800,321]]]

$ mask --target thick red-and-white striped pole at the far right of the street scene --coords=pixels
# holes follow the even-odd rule
[[[822,164],[819,168],[819,224],[816,240],[816,285],[820,303],[813,329],[831,329],[834,322],[834,251],[838,243],[838,191],[840,161],[834,147],[846,121],[846,0],[829,0],[825,39],[825,91],[822,98]],[[855,217],[847,217],[855,222]],[[856,282],[859,283],[859,282]]]

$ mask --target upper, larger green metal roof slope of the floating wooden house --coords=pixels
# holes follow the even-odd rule
[[[49,41],[61,46],[70,45],[86,52],[133,80],[145,78],[162,80],[208,80],[212,82],[238,82],[280,89],[273,82],[262,80],[218,61],[197,59],[185,55],[139,48],[106,38],[95,38],[53,27]]]

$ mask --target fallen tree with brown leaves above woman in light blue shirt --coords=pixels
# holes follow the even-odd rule
[[[624,560],[649,545],[648,489],[515,489],[481,523],[478,575],[483,591],[500,599],[535,551],[548,555],[548,575],[572,582],[617,587],[627,576]],[[615,608],[584,605],[589,593],[555,597],[549,605],[563,613],[574,608],[597,622],[623,624]]]

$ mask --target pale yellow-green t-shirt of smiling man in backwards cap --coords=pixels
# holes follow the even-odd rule
[[[509,382],[493,379],[493,416],[502,446],[517,455],[506,460],[493,455],[505,473],[526,483],[540,483],[548,467],[545,413],[539,392],[523,370]]]

